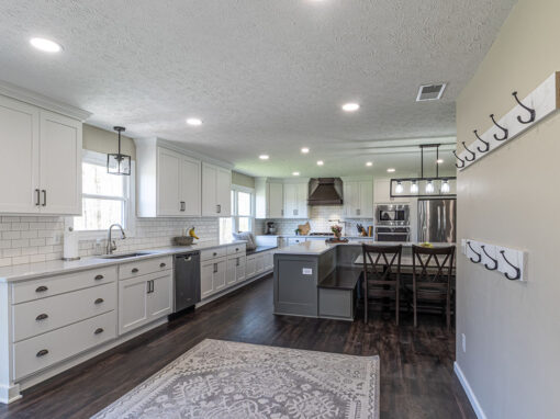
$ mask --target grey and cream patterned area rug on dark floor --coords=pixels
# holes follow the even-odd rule
[[[206,339],[94,419],[379,418],[379,356]]]

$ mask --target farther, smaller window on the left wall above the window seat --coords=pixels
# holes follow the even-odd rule
[[[234,185],[232,188],[232,217],[220,218],[220,239],[231,240],[232,233],[253,231],[255,218],[254,191]]]

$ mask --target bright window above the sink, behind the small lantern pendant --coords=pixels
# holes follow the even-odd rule
[[[130,228],[131,179],[107,172],[107,155],[85,151],[82,168],[82,215],[74,218],[79,231],[107,230],[111,224]]]

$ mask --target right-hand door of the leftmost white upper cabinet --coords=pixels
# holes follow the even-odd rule
[[[41,111],[41,212],[81,215],[81,122]]]

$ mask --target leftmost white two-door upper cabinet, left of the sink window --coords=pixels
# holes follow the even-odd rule
[[[0,95],[0,213],[81,215],[81,125]]]

